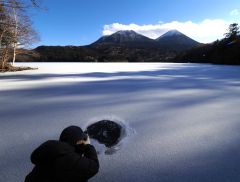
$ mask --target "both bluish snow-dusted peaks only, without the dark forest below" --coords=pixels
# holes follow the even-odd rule
[[[132,30],[118,31],[112,35],[103,36],[90,46],[106,48],[109,46],[124,46],[135,48],[158,48],[164,51],[182,51],[200,45],[177,30],[170,30],[153,40]]]

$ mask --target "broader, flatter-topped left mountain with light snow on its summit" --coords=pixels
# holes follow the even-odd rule
[[[112,35],[103,36],[91,44],[93,47],[99,46],[130,46],[130,47],[153,47],[156,42],[133,30],[118,31]]]

